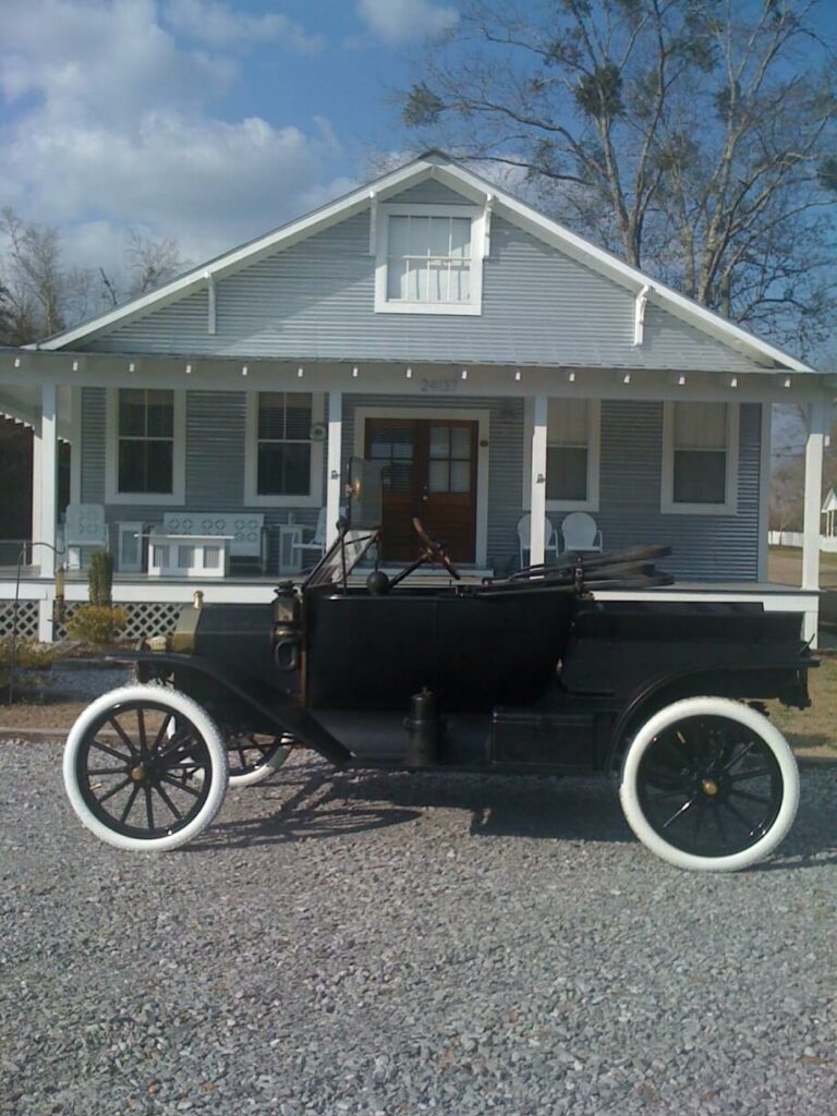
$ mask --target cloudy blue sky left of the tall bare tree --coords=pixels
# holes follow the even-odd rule
[[[199,262],[372,176],[389,94],[456,0],[3,0],[0,204],[117,267],[125,229]]]

